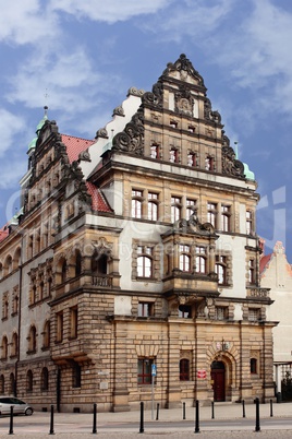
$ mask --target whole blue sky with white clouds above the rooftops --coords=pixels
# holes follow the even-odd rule
[[[256,175],[257,232],[292,262],[290,0],[0,0],[0,224],[19,206],[42,118],[93,139],[131,86],[185,54]],[[267,252],[270,249],[267,248]]]

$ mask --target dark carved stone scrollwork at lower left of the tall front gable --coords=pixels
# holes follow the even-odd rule
[[[114,135],[112,151],[144,155],[144,115],[141,108],[124,130]]]

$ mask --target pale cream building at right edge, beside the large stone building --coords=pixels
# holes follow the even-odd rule
[[[289,378],[291,381],[292,378],[292,322],[289,312],[292,309],[292,266],[287,261],[282,242],[276,242],[272,253],[263,254],[260,278],[263,287],[270,289],[273,300],[269,319],[279,322],[272,333],[277,390],[281,392],[281,380]]]

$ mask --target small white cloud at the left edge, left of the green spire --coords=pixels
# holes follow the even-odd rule
[[[12,115],[4,108],[0,108],[0,156],[2,156],[9,149],[11,149],[13,144],[16,147],[13,139],[24,129],[24,119],[19,116]],[[1,168],[1,179],[2,178],[3,176]]]

